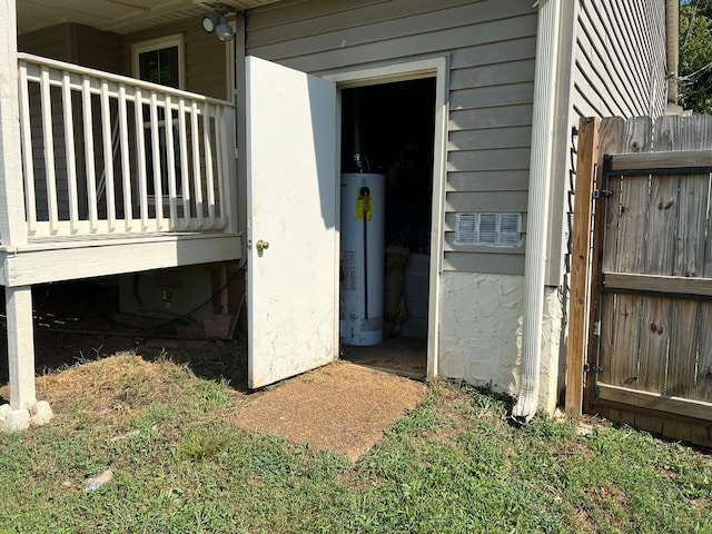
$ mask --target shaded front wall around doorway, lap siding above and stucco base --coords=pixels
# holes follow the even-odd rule
[[[511,249],[466,247],[454,229],[461,211],[521,212],[526,229],[536,24],[530,0],[314,0],[246,16],[246,53],[315,75],[447,57],[438,374],[512,394],[524,239]],[[556,345],[558,332],[556,324]],[[544,389],[548,406],[555,392]]]

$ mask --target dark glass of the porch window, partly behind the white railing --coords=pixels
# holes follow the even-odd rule
[[[134,76],[144,81],[160,83],[161,86],[172,87],[175,89],[184,88],[184,44],[180,36],[168,37],[164,39],[154,39],[145,41],[134,47]],[[168,150],[166,149],[166,123],[165,110],[158,110],[158,142],[160,151],[160,174],[161,174],[161,194],[165,199],[168,198]],[[177,112],[172,112],[174,117],[174,139],[178,142],[178,126],[176,120]],[[144,106],[144,131],[146,135],[146,178],[148,195],[154,197],[156,186],[154,182],[154,147],[151,144],[151,123],[150,109]],[[178,154],[172,155],[176,167],[176,190],[180,194],[180,158]]]

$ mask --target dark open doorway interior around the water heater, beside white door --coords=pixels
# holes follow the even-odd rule
[[[426,377],[429,337],[435,101],[435,77],[340,90],[340,170],[349,176],[380,175],[385,196],[378,250],[383,340],[359,345],[345,343],[342,335],[342,358],[421,379]],[[342,212],[347,217],[350,204],[343,197]],[[342,218],[343,246],[345,233]],[[344,298],[339,301],[344,329],[349,310],[344,309]]]

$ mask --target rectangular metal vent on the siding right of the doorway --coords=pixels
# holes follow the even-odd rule
[[[455,244],[518,247],[522,214],[457,214]]]

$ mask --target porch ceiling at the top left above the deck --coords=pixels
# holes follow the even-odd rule
[[[221,0],[236,10],[278,0]],[[115,33],[130,33],[212,11],[216,0],[16,0],[18,33],[62,22],[78,22]]]

